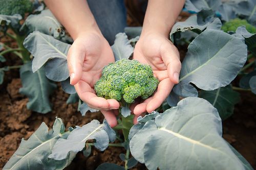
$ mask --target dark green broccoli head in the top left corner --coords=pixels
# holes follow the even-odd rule
[[[0,14],[24,16],[26,12],[32,12],[33,4],[30,0],[0,0]]]

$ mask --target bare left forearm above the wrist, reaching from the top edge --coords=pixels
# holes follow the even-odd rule
[[[86,0],[45,0],[44,2],[73,39],[88,31],[100,33]]]

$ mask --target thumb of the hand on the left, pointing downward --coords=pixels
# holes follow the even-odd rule
[[[85,57],[85,50],[81,45],[76,43],[72,44],[68,52],[68,67],[70,72],[70,84],[75,85],[82,77],[82,64]]]

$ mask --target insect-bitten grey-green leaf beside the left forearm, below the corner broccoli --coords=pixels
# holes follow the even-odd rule
[[[21,32],[25,30],[27,33],[39,31],[57,39],[65,36],[63,27],[49,9],[41,11],[38,15],[29,15],[20,28]]]

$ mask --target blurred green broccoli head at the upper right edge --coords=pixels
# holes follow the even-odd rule
[[[252,33],[252,34],[256,33],[255,27],[250,25],[245,19],[239,19],[239,18],[231,19],[230,21],[224,23],[221,29],[226,33],[230,31],[236,32],[237,28],[240,26],[245,26],[246,30],[249,33]]]

